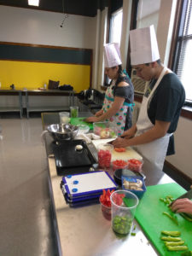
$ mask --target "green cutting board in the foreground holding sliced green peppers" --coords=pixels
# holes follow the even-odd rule
[[[185,220],[177,214],[178,225],[171,218],[162,212],[169,212],[168,207],[160,198],[166,195],[172,195],[177,198],[186,192],[177,183],[167,183],[155,186],[148,186],[147,191],[143,195],[137,207],[136,216],[138,224],[141,225],[148,239],[153,243],[154,247],[162,256],[177,256],[180,252],[169,252],[164,245],[164,241],[160,240],[160,232],[162,230],[178,230],[186,245],[192,250],[192,222]]]

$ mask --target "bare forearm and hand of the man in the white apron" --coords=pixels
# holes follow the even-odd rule
[[[150,130],[144,132],[140,136],[132,137],[130,139],[117,138],[113,142],[113,146],[116,148],[121,148],[121,147],[130,147],[130,146],[135,146],[135,145],[140,145],[145,143],[151,143],[160,137],[164,137],[166,135],[166,132],[169,129],[169,126],[170,126],[170,122],[163,122],[163,121],[156,120],[154,127],[151,128]]]

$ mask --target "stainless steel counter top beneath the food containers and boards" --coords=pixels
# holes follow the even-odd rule
[[[43,114],[44,119],[44,114]],[[51,154],[49,134],[45,135],[47,154]],[[90,146],[91,150],[94,150]],[[99,204],[70,208],[61,193],[61,177],[57,176],[55,159],[48,157],[49,190],[53,205],[55,234],[60,255],[66,256],[122,256],[122,255],[158,255],[143,231],[136,224],[136,236],[120,238],[113,233],[110,221],[102,216]],[[172,183],[173,180],[144,160],[143,173],[146,185]]]

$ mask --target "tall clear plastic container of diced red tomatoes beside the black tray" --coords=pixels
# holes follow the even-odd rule
[[[108,143],[99,144],[97,146],[98,164],[101,168],[109,168],[111,166],[113,145]]]

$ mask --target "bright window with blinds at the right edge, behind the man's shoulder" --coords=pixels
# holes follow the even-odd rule
[[[192,0],[183,0],[172,69],[183,83],[186,102],[192,104]]]

